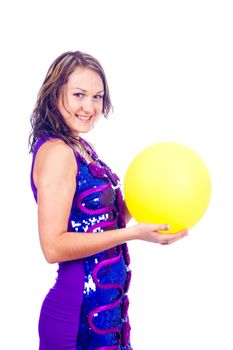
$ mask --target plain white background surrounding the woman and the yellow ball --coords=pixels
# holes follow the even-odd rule
[[[27,137],[40,84],[67,50],[105,68],[114,115],[88,139],[122,179],[159,141],[192,147],[211,173],[210,206],[188,238],[129,245],[134,350],[233,349],[232,18],[227,0],[1,4],[1,349],[38,349],[56,276],[39,246]]]

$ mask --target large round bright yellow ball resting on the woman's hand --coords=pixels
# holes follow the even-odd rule
[[[124,195],[138,222],[169,224],[169,233],[193,227],[211,195],[209,171],[192,149],[174,142],[147,147],[130,163]]]

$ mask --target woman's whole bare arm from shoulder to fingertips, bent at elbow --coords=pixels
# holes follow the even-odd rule
[[[40,243],[50,263],[84,258],[133,239],[172,243],[186,232],[159,234],[167,225],[137,224],[95,234],[67,232],[76,189],[77,163],[63,141],[48,141],[39,149],[33,172],[38,195]]]

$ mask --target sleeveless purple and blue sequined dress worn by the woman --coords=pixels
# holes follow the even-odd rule
[[[39,147],[49,138],[37,141]],[[95,232],[125,227],[119,179],[96,153],[93,163],[74,152],[78,165],[76,192],[68,221],[69,232]],[[37,190],[31,172],[32,190]],[[131,272],[127,245],[59,263],[55,285],[40,314],[40,350],[132,350],[128,319]]]

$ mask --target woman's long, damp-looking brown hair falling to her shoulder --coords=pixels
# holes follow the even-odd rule
[[[48,135],[57,136],[71,146],[80,146],[72,130],[66,125],[57,108],[57,100],[61,88],[67,83],[71,73],[77,67],[87,67],[99,74],[104,85],[103,110],[107,118],[112,109],[108,84],[104,70],[97,59],[80,51],[68,51],[60,55],[51,64],[45,80],[39,90],[37,102],[32,112],[31,132],[29,135],[29,149],[33,152],[34,145],[39,138]]]

